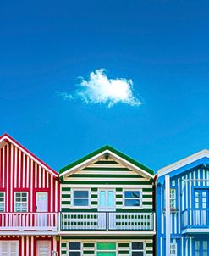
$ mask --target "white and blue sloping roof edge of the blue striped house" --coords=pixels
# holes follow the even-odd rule
[[[200,164],[209,164],[209,150],[203,149],[200,152],[194,153],[187,158],[181,159],[173,164],[169,164],[166,167],[158,170],[158,177],[162,175],[167,175],[175,170],[183,172],[184,170],[189,170]],[[178,174],[179,174],[178,172]],[[176,174],[177,175],[177,174]]]

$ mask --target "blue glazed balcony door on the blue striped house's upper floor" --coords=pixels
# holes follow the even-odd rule
[[[208,225],[209,192],[207,189],[195,189],[195,225]]]

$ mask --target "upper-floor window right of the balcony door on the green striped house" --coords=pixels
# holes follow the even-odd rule
[[[125,190],[124,191],[124,206],[125,207],[140,207],[142,205],[142,195],[140,190]]]

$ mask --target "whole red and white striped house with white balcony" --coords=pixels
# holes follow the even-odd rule
[[[0,255],[59,255],[58,173],[0,136]]]

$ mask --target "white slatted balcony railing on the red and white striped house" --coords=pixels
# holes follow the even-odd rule
[[[57,231],[57,213],[0,213],[1,231]]]

